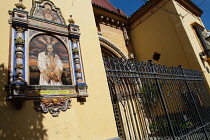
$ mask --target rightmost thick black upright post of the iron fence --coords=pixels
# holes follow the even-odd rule
[[[184,77],[184,79],[185,79],[184,81],[185,81],[185,84],[186,84],[186,86],[187,86],[187,89],[188,89],[188,91],[189,91],[189,93],[190,93],[190,97],[191,97],[191,99],[192,99],[192,101],[193,101],[193,106],[195,107],[195,110],[196,110],[196,113],[197,113],[197,115],[198,115],[199,121],[200,121],[201,125],[204,126],[203,121],[202,121],[201,116],[200,116],[200,113],[199,113],[199,111],[198,111],[198,108],[197,108],[197,106],[196,106],[196,104],[195,104],[195,100],[194,100],[194,98],[193,98],[193,96],[192,96],[192,93],[191,93],[191,91],[190,91],[190,87],[189,87],[189,84],[188,84],[188,82],[187,82],[187,78],[186,78],[186,76],[185,76],[185,74],[184,74],[183,68],[182,68],[181,65],[179,65],[179,67],[180,67],[180,69],[181,69],[181,71],[182,71],[182,74],[183,74],[183,77]],[[207,140],[208,140],[209,138],[208,138],[208,135],[207,135],[207,132],[206,132],[205,128],[203,128],[203,131],[204,131],[204,134],[205,134],[205,136],[206,136],[206,138],[207,138]]]

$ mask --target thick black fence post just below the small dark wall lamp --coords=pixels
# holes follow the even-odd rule
[[[164,109],[164,112],[166,114],[166,119],[167,119],[168,124],[169,124],[169,129],[171,131],[172,138],[173,138],[173,140],[175,140],[176,139],[176,136],[175,136],[175,133],[174,133],[174,130],[173,130],[173,126],[172,126],[171,121],[170,121],[170,116],[169,116],[169,113],[168,113],[167,104],[165,102],[165,98],[163,96],[163,93],[162,93],[162,90],[161,90],[161,87],[160,87],[160,83],[159,83],[159,80],[158,80],[157,73],[155,71],[155,68],[154,68],[154,65],[152,63],[152,60],[149,60],[149,63],[151,65],[152,70],[153,70],[153,73],[154,73],[155,81],[156,81],[156,84],[157,84],[158,91],[160,93],[160,99],[161,99],[161,102],[163,104],[163,109]]]

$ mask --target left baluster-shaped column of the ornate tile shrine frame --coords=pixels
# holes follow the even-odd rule
[[[13,29],[15,29],[15,38],[12,54],[13,62],[11,65],[13,69],[12,71],[12,81],[11,81],[11,97],[9,98],[19,98],[26,97],[26,88],[27,82],[25,81],[24,74],[24,33],[28,26],[28,12],[24,11],[26,8],[22,0],[19,0],[19,3],[15,4],[17,8],[14,8],[13,11],[9,11],[10,21]]]

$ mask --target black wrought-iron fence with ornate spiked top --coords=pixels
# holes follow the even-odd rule
[[[210,139],[210,96],[199,71],[103,59],[123,140]]]

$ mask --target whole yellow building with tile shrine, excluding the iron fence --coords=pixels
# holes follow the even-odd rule
[[[0,11],[0,139],[117,139],[102,55],[181,64],[209,83],[190,0],[151,0],[131,17],[107,0],[10,0]]]

